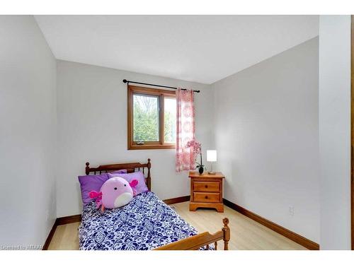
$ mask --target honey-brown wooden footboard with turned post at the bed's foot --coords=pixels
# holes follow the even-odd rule
[[[201,234],[193,235],[193,237],[188,237],[184,240],[179,240],[162,247],[157,247],[154,250],[197,250],[200,249],[200,247],[206,247],[209,249],[209,245],[212,243],[215,244],[215,249],[217,249],[217,241],[219,240],[224,241],[224,250],[229,250],[229,219],[224,218],[222,223],[224,223],[224,227],[222,230],[215,232],[215,234],[210,234],[210,232],[202,232]]]

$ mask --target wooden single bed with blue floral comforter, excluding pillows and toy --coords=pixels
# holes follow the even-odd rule
[[[107,209],[101,213],[94,202],[84,206],[79,226],[79,249],[82,250],[187,250],[217,249],[217,241],[224,241],[228,249],[230,240],[229,220],[215,234],[198,234],[173,209],[151,192],[151,160],[147,163],[125,163],[90,167],[86,163],[86,175],[93,172],[110,172],[126,169],[146,173],[149,192],[138,194],[121,208]]]

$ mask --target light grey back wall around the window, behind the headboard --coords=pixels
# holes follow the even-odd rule
[[[99,66],[57,61],[57,216],[81,213],[78,175],[86,161],[145,162],[152,159],[152,191],[161,199],[188,195],[187,172],[176,174],[174,150],[127,151],[127,85],[122,79],[202,90],[195,94],[196,138],[212,148],[210,86]]]

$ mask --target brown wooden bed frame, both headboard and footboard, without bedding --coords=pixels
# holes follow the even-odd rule
[[[150,158],[147,160],[147,163],[123,163],[123,164],[111,164],[111,165],[99,165],[98,167],[90,167],[90,163],[86,162],[86,175],[90,175],[90,172],[96,175],[96,172],[112,172],[115,170],[127,170],[128,173],[142,171],[145,175],[145,168],[147,168],[147,176],[145,177],[145,183],[147,188],[151,192],[151,173],[150,168],[152,163],[150,163]],[[154,250],[197,250],[200,247],[206,247],[209,249],[209,245],[214,243],[215,249],[217,249],[217,241],[224,241],[224,250],[229,250],[229,240],[230,240],[230,228],[228,226],[229,219],[224,218],[222,220],[224,226],[222,230],[215,232],[215,234],[210,234],[210,232],[202,232],[198,235],[193,235],[192,237],[187,237],[183,240],[178,240],[176,242],[164,245],[162,247],[157,247]]]

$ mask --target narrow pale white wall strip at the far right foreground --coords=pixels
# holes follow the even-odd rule
[[[321,249],[350,249],[350,16],[320,16]]]

